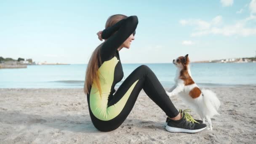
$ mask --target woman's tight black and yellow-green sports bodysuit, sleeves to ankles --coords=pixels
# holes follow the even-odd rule
[[[179,114],[154,72],[146,65],[137,67],[117,91],[114,89],[116,83],[123,78],[123,68],[117,48],[131,34],[135,35],[137,24],[137,16],[129,16],[102,32],[102,38],[107,41],[100,49],[102,64],[99,65],[98,72],[100,73],[101,96],[94,84],[90,86],[90,93],[87,93],[91,120],[100,131],[115,130],[123,123],[142,88],[166,115],[175,117]]]

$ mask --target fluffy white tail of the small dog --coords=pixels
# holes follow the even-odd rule
[[[210,90],[203,89],[203,101],[205,102],[206,107],[208,108],[208,115],[212,117],[213,115],[219,115],[217,110],[221,105],[216,93]]]

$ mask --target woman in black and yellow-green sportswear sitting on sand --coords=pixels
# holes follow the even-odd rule
[[[188,114],[178,111],[159,80],[149,67],[137,67],[115,91],[123,78],[119,51],[130,48],[138,24],[137,16],[113,15],[107,19],[105,29],[97,33],[101,43],[94,51],[86,69],[84,91],[93,125],[99,131],[118,128],[131,112],[143,88],[168,116],[166,129],[170,132],[195,133],[206,128]]]

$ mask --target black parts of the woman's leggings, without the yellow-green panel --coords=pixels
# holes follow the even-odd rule
[[[171,102],[170,98],[165,93],[165,89],[160,84],[159,80],[155,76],[154,72],[152,72],[149,67],[146,65],[141,65],[137,67],[120,85],[113,96],[109,97],[108,107],[112,106],[113,104],[117,103],[128,91],[131,85],[139,80],[135,87],[133,88],[124,108],[117,115],[115,118],[111,120],[99,120],[97,117],[93,115],[90,108],[90,96],[87,95],[89,112],[91,116],[91,120],[93,125],[99,129],[100,131],[112,131],[118,128],[126,117],[131,112],[135,101],[143,88],[147,96],[152,99],[168,117],[176,117],[179,114],[179,111],[174,107],[173,103]]]

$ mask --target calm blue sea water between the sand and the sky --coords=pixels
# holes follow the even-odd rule
[[[141,64],[122,64],[125,80]],[[145,64],[164,87],[174,84],[173,64]],[[0,88],[83,88],[86,64],[32,65],[0,69]],[[192,63],[193,80],[200,87],[256,85],[256,63]],[[123,80],[117,83],[118,87]]]

